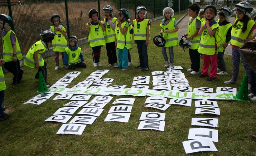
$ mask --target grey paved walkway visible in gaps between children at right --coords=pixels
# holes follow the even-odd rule
[[[181,38],[182,35],[184,35],[187,30],[188,30],[188,19],[189,19],[189,15],[185,15],[184,18],[182,20],[179,21],[179,31],[178,31],[178,37],[179,39]],[[235,18],[230,18],[230,22],[231,24],[233,24],[235,21]],[[228,47],[225,50],[225,54],[227,55],[232,55],[232,48],[230,45],[228,45]]]

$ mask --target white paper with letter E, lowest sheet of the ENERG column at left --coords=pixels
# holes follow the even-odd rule
[[[86,125],[66,123],[59,128],[56,134],[82,135]]]

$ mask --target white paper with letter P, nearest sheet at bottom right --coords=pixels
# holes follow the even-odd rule
[[[211,140],[195,139],[182,142],[186,154],[201,151],[218,151]]]

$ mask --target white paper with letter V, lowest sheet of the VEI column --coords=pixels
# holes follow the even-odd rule
[[[110,113],[107,114],[107,117],[105,118],[104,122],[128,122],[130,116],[131,113]]]

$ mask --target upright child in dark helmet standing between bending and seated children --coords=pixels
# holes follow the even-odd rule
[[[55,70],[59,69],[59,53],[62,56],[62,63],[64,65],[64,52],[65,48],[67,47],[67,40],[66,40],[66,29],[64,26],[60,25],[61,23],[61,16],[58,14],[52,14],[50,17],[50,21],[52,22],[52,26],[50,26],[50,30],[56,33],[57,35],[54,36],[52,41],[52,48],[55,53]]]

